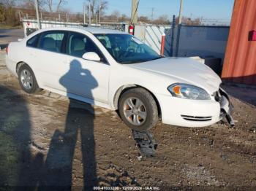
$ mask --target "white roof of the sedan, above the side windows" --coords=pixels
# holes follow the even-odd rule
[[[91,34],[127,34],[123,31],[118,31],[115,29],[110,29],[110,28],[99,28],[99,27],[54,27],[54,28],[45,28],[39,31],[53,31],[53,30],[58,30],[58,31],[88,31]]]

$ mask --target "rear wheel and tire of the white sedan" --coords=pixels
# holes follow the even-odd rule
[[[23,64],[18,69],[18,80],[20,87],[26,93],[37,93],[41,90],[37,85],[37,79],[34,76],[34,72],[26,64]]]

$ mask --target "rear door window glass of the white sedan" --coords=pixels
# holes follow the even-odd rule
[[[64,32],[51,31],[42,34],[39,41],[39,48],[51,52],[61,52],[61,46],[64,39]]]

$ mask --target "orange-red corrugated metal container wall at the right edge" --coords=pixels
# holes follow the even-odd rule
[[[256,85],[256,41],[249,32],[256,30],[256,1],[235,0],[225,61],[224,81]]]

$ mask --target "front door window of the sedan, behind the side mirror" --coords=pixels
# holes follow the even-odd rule
[[[96,52],[102,62],[105,62],[105,58],[99,48],[94,44],[94,42],[89,39],[88,36],[83,34],[70,32],[67,38],[66,52],[68,55],[82,58],[83,54],[86,52]]]

